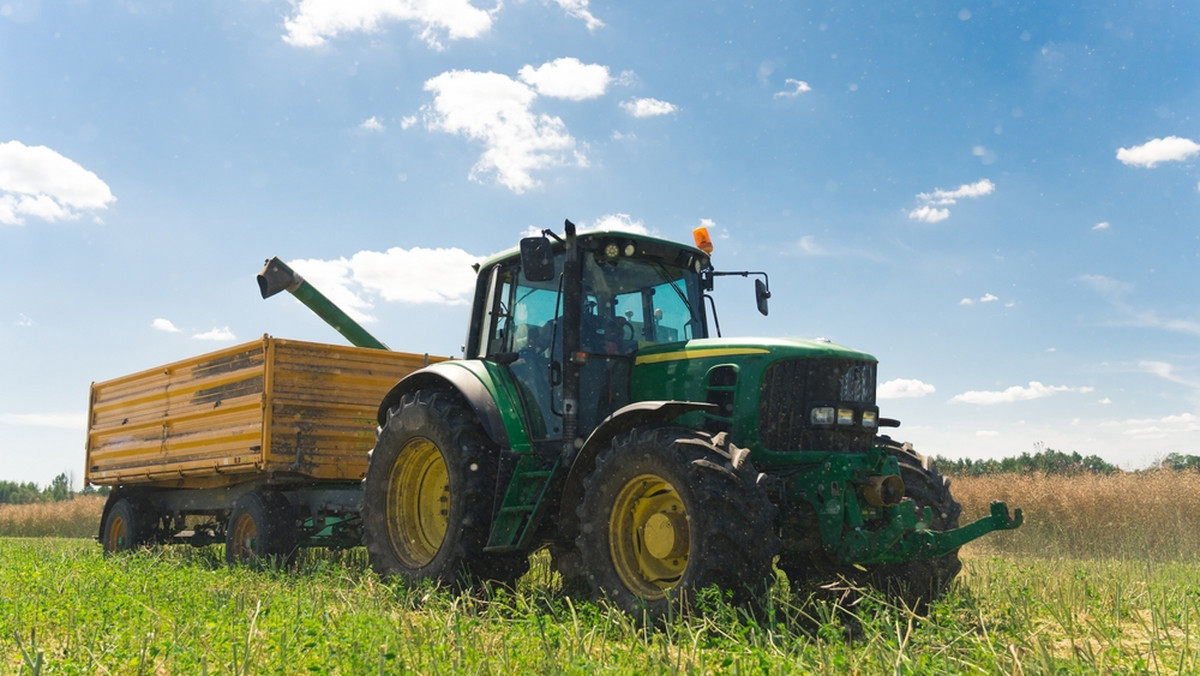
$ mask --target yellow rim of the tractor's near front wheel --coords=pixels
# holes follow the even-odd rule
[[[622,486],[608,519],[608,549],[625,586],[659,599],[688,569],[691,527],[688,509],[667,480],[634,477]]]

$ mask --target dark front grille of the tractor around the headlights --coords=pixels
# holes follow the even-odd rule
[[[815,429],[815,405],[851,406],[856,415],[875,407],[876,365],[851,359],[785,359],[767,367],[758,393],[758,435],[772,450],[844,450],[871,448],[875,430]]]

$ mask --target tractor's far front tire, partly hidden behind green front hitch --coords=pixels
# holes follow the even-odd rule
[[[950,496],[949,479],[942,477],[929,457],[912,450],[912,445],[900,444],[887,437],[881,437],[878,443],[900,462],[905,496],[911,497],[918,507],[929,507],[932,512],[930,527],[935,531],[958,528],[962,505]],[[870,567],[869,575],[875,588],[899,598],[910,608],[924,611],[929,603],[946,593],[961,569],[959,550],[954,550],[937,558]]]

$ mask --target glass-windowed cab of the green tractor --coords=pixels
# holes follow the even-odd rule
[[[630,403],[638,349],[708,336],[707,253],[620,232],[574,239],[574,255],[527,239],[484,263],[475,291],[466,357],[509,370],[535,444],[564,438],[569,407],[586,435]],[[575,397],[563,391],[572,372]]]

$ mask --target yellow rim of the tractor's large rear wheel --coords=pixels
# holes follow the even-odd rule
[[[401,563],[427,566],[450,522],[450,474],[442,450],[427,438],[404,444],[388,475],[388,533]]]

